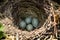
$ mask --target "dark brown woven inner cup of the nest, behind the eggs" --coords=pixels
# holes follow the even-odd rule
[[[18,26],[18,28],[19,22],[28,16],[31,16],[32,18],[36,17],[39,20],[39,28],[41,28],[47,19],[48,14],[45,13],[43,5],[40,5],[40,3],[34,2],[33,0],[21,0],[13,5],[13,23]]]

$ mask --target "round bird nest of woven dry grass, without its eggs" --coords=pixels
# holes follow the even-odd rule
[[[52,13],[50,10],[51,5],[49,3],[50,1],[45,0],[8,1],[6,5],[2,7],[5,9],[3,12],[3,14],[5,13],[5,19],[1,21],[5,26],[4,31],[15,36],[18,34],[19,38],[22,40],[41,36],[46,33],[47,29],[51,28],[50,17]],[[6,16],[8,18],[6,18]],[[37,17],[39,19],[39,28],[30,32],[18,28],[19,21],[28,16]]]

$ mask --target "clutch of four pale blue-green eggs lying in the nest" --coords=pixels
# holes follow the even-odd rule
[[[39,25],[39,20],[37,18],[26,17],[25,20],[19,23],[20,28],[32,31]]]

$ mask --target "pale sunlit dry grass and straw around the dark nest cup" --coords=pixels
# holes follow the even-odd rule
[[[18,1],[15,1],[13,3],[13,5],[16,4],[17,2]],[[34,2],[37,3],[36,1],[34,1]],[[58,35],[59,31],[58,31],[56,25],[58,24],[57,21],[59,21],[59,18],[60,18],[60,7],[57,10],[55,10],[54,9],[54,4],[52,3],[52,1],[47,0],[47,2],[46,2],[46,0],[44,0],[44,3],[45,4],[43,5],[43,9],[45,10],[45,13],[48,14],[49,16],[44,21],[41,28],[39,28],[39,29],[35,29],[31,32],[23,31],[23,30],[18,29],[18,27],[13,24],[14,19],[11,17],[11,14],[8,14],[8,15],[10,15],[10,17],[6,17],[6,18],[3,18],[2,20],[0,20],[0,22],[3,23],[3,25],[5,26],[4,27],[5,28],[4,32],[7,34],[6,40],[16,40],[16,39],[19,39],[19,40],[28,40],[28,39],[34,40],[35,38],[40,38],[42,40],[46,40],[47,38],[48,38],[48,40],[57,40],[55,38],[57,38],[57,35]],[[8,7],[8,11],[13,10],[12,8],[10,9],[10,6]],[[10,11],[9,12],[6,11],[4,13],[10,13]],[[51,16],[53,16],[54,21],[51,21]],[[47,31],[51,30],[51,28],[53,28],[54,30],[51,31],[51,32],[47,32]],[[8,36],[8,34],[10,36]]]

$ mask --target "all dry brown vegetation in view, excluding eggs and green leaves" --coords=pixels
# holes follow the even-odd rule
[[[26,16],[37,17],[40,28],[31,32],[19,29],[19,20]],[[60,4],[50,0],[1,0],[0,22],[7,34],[5,40],[59,40]]]

